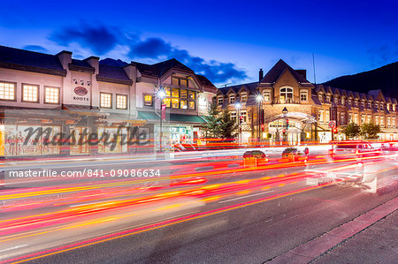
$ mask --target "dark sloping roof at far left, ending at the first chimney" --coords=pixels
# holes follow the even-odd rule
[[[0,46],[0,67],[28,72],[66,75],[56,55]]]

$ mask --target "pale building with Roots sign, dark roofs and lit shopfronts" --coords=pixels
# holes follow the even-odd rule
[[[3,155],[134,154],[154,149],[160,132],[159,88],[167,93],[162,130],[169,138],[165,141],[188,142],[200,137],[201,115],[207,113],[217,90],[205,77],[175,59],[149,65],[99,57],[79,60],[72,55],[69,51],[49,55],[0,46]],[[82,141],[69,147],[34,144],[27,142],[29,127],[49,129],[51,135],[73,132],[73,139]],[[98,135],[97,144],[90,144],[90,133]],[[123,138],[140,138],[146,147],[107,144],[106,137],[118,143]]]

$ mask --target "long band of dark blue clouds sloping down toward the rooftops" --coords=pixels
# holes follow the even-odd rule
[[[101,56],[114,50],[117,46],[128,47],[126,59],[149,59],[160,62],[176,58],[186,64],[194,72],[203,74],[214,83],[226,83],[246,79],[247,73],[237,68],[235,64],[215,60],[205,60],[192,56],[188,50],[180,49],[172,43],[158,37],[141,39],[137,34],[122,32],[107,26],[81,26],[64,28],[50,36],[61,46],[79,43],[82,48],[91,49],[96,56]]]

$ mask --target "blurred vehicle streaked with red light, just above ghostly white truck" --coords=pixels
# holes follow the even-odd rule
[[[362,160],[366,157],[378,157],[382,154],[381,147],[372,147],[371,143],[364,140],[333,142],[329,151],[333,160],[354,159]]]

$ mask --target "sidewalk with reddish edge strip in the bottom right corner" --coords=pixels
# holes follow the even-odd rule
[[[398,198],[266,263],[396,263]]]

